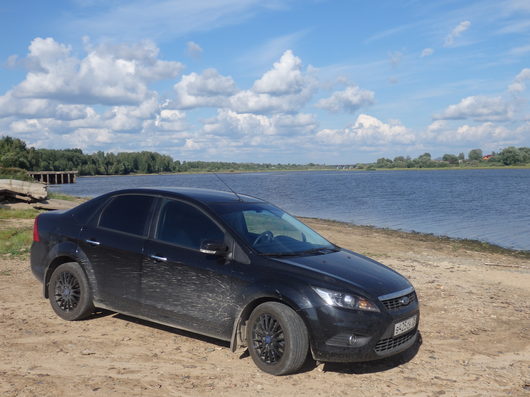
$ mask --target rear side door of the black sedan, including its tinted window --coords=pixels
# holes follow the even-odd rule
[[[141,265],[154,203],[155,197],[148,195],[115,196],[81,231],[79,245],[92,264],[96,298],[109,308],[139,312]]]

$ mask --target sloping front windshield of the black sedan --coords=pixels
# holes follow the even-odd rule
[[[273,205],[230,203],[213,207],[236,233],[261,254],[290,256],[337,250],[318,233]]]

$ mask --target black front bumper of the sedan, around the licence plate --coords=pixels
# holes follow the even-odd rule
[[[419,305],[380,313],[322,305],[303,310],[313,358],[318,361],[357,362],[401,353],[418,338]],[[396,323],[416,317],[414,328],[394,336]]]

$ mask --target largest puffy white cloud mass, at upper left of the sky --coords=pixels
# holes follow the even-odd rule
[[[182,69],[179,62],[157,59],[158,48],[148,41],[87,49],[87,56],[79,59],[52,38],[34,39],[28,74],[12,95],[72,104],[134,104],[152,95],[150,82],[175,77]]]

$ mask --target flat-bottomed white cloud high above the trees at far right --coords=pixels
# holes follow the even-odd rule
[[[513,115],[513,105],[500,96],[469,96],[433,117],[445,120],[507,121]]]

